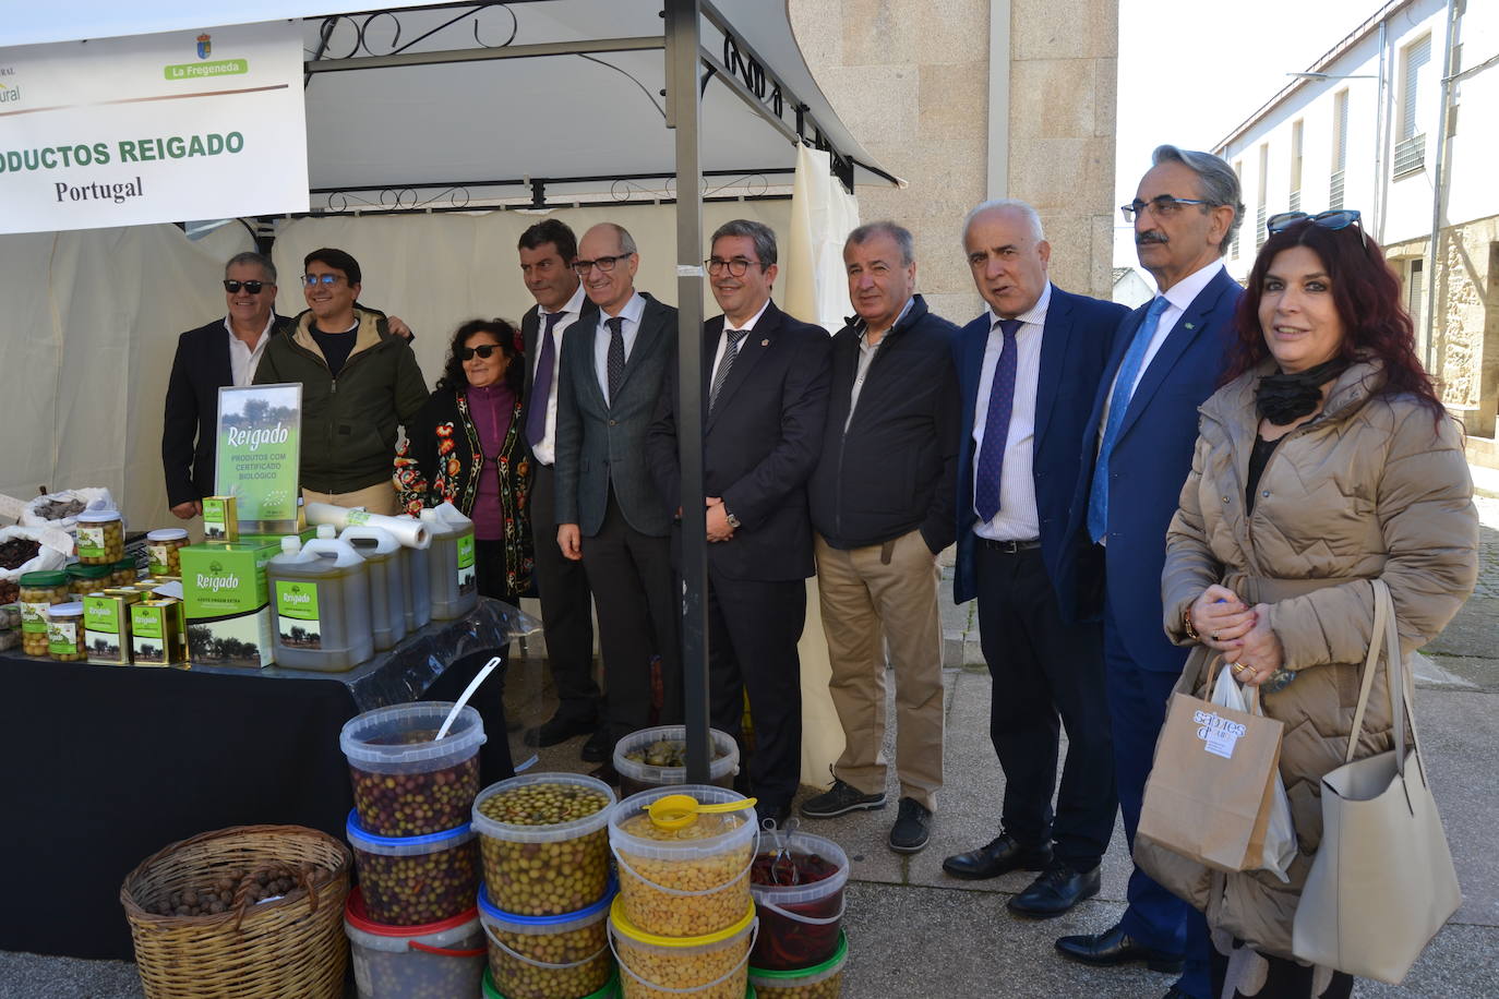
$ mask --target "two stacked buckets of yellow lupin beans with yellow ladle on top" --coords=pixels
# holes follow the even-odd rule
[[[735,810],[652,815],[667,795]],[[739,807],[735,807],[739,806]],[[642,791],[609,818],[619,870],[610,942],[624,999],[741,999],[748,990],[755,908],[750,863],[755,813],[745,797],[711,785]]]

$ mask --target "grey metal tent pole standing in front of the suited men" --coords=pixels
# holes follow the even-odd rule
[[[676,446],[682,469],[682,699],[688,783],[708,783],[709,768],[699,7],[700,0],[666,1],[666,121],[676,130]]]

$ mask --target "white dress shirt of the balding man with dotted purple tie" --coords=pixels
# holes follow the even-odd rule
[[[983,451],[985,422],[989,416],[989,394],[994,388],[994,367],[1004,349],[1000,316],[989,310],[989,340],[983,344],[983,370],[979,374],[979,398],[973,410],[974,496],[968,515],[974,517],[973,533],[994,541],[1036,541],[1040,538],[1040,515],[1036,512],[1036,479],[1031,458],[1036,449],[1036,383],[1040,380],[1040,340],[1051,306],[1051,282],[1040,298],[1021,313],[1021,328],[1015,331],[1015,400],[1010,409],[1010,431],[1004,440],[1004,464],[1000,469],[1000,511],[991,521],[974,514],[977,499],[979,454]]]

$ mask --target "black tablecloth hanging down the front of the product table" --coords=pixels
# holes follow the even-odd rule
[[[451,628],[474,631],[472,622]],[[415,693],[456,699],[486,661],[468,652]],[[493,680],[502,677],[478,695],[490,735],[486,780],[510,771]],[[0,655],[0,684],[10,747],[0,950],[132,957],[120,884],[141,860],[196,833],[294,824],[343,839],[352,795],[339,729],[361,708],[339,674],[273,678]]]

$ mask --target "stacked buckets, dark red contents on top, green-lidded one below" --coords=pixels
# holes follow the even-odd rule
[[[751,882],[760,935],[750,981],[760,999],[836,999],[848,960],[848,855],[821,836],[767,833]]]

